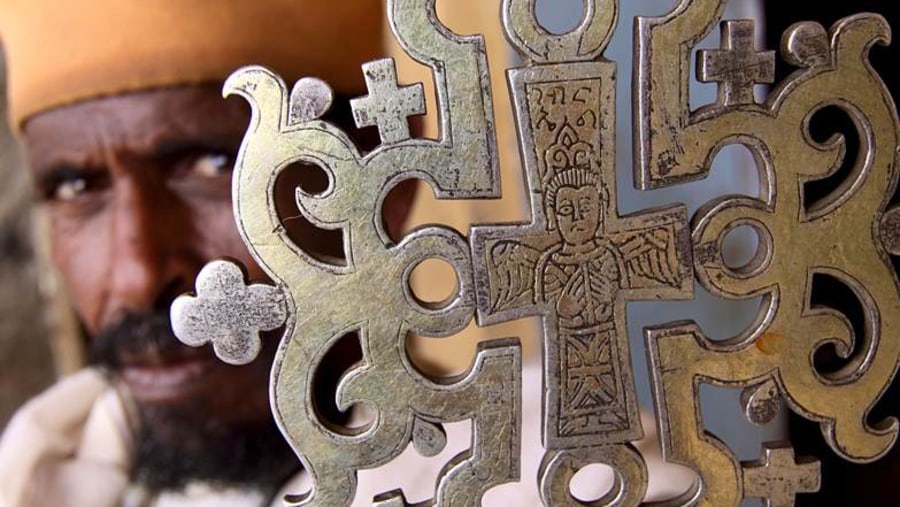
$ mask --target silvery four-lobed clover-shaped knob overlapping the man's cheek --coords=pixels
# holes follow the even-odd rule
[[[212,343],[219,359],[242,365],[259,355],[259,333],[284,323],[287,305],[279,288],[248,286],[240,266],[213,261],[197,276],[197,295],[178,297],[170,313],[172,330],[182,343]]]

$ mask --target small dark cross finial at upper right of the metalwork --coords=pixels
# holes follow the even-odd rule
[[[722,23],[721,49],[702,50],[697,79],[719,83],[719,103],[740,106],[756,102],[753,86],[775,82],[775,52],[756,51],[752,20]]]

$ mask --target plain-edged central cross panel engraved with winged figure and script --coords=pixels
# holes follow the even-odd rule
[[[614,69],[573,70],[513,74],[534,222],[472,234],[482,323],[544,316],[548,449],[641,438],[625,303],[691,284],[682,208],[616,210]]]

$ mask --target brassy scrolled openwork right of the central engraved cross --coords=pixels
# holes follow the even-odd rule
[[[691,112],[683,70],[687,49],[718,21],[720,9],[711,4],[684,1],[667,17],[638,21],[637,100],[644,113],[638,179],[653,187],[704,176],[728,144],[742,144],[756,156],[759,198],[722,197],[692,220],[697,279],[720,297],[762,296],[756,322],[718,343],[693,324],[648,331],[664,454],[700,474],[700,488],[688,497],[696,495],[703,505],[735,505],[758,495],[760,487],[746,488],[747,467],[703,432],[701,383],[768,391],[774,383],[788,406],[820,422],[834,451],[851,461],[875,460],[894,444],[896,421],[870,427],[865,419],[893,379],[900,354],[900,343],[888,339],[900,324],[897,278],[878,232],[896,185],[898,128],[890,95],[866,60],[869,47],[890,33],[874,15],[845,19],[830,33],[813,23],[794,25],[782,51],[800,68],[765,103],[720,98]],[[733,37],[734,28],[724,25],[723,36],[730,31]],[[680,66],[671,64],[679,60]],[[807,201],[803,184],[832,174],[845,154],[842,139],[820,144],[809,134],[814,115],[828,105],[852,118],[866,155],[841,186]],[[759,249],[747,265],[730,266],[721,245],[739,226],[756,231]],[[859,298],[862,336],[837,311],[811,306],[816,275],[839,280]],[[837,371],[820,371],[813,362],[826,344],[846,359]]]

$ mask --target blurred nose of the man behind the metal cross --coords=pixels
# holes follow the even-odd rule
[[[104,317],[168,310],[178,294],[189,290],[201,264],[192,254],[187,208],[162,178],[117,180],[111,217],[110,293]]]

